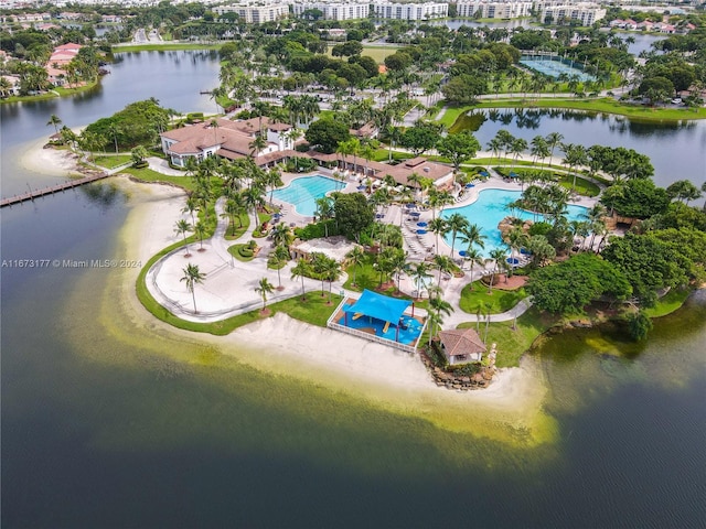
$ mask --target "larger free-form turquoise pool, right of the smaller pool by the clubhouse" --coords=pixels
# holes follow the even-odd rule
[[[500,222],[511,214],[507,204],[520,199],[522,192],[509,190],[483,190],[479,193],[478,199],[466,206],[451,207],[441,213],[441,217],[448,219],[454,213],[460,213],[468,222],[475,224],[481,228],[481,234],[485,236],[485,248],[481,251],[488,257],[495,248],[503,247],[502,238],[498,225]],[[568,206],[568,220],[580,220],[588,213],[588,208],[584,206]],[[515,217],[523,220],[533,220],[534,215],[530,212],[515,209],[512,212]],[[451,246],[452,234],[447,234],[443,238]],[[456,236],[456,250],[466,250],[459,236]]]

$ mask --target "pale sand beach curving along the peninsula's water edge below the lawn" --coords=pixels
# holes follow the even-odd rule
[[[135,196],[122,239],[130,259],[147,262],[156,252],[173,244],[172,227],[181,218],[184,195],[168,186],[138,184],[118,180],[120,187]],[[438,388],[417,357],[367,342],[355,336],[309,325],[285,314],[237,328],[227,336],[186,333],[157,321],[140,305],[135,295],[137,271],[129,274],[125,292],[139,319],[152,320],[150,325],[164,327],[191,341],[210,343],[225,354],[263,370],[274,370],[310,379],[336,390],[353,391],[366,399],[404,407],[430,409],[440,403],[454,407],[482,404],[485,410],[510,413],[520,419],[541,408],[545,388],[537,373],[530,368],[501,369],[488,389],[457,392]],[[524,421],[520,421],[524,422]]]

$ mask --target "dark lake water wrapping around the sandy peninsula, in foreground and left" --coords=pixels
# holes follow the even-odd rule
[[[151,64],[141,61],[132,64]],[[163,61],[167,68],[172,60]],[[199,78],[182,105],[169,102],[184,111],[210,102],[195,88],[214,80],[208,63],[193,64]],[[127,72],[127,84],[149,76]],[[156,86],[135,99],[167,101],[170,90]],[[105,85],[94,101],[55,105],[83,106],[83,120],[62,110],[73,125],[124,105]],[[2,107],[3,186],[45,179],[9,154],[47,132],[47,114],[60,112],[42,108]],[[35,136],[15,137],[14,128]],[[142,199],[104,183],[2,209],[2,258],[133,257],[120,230]],[[539,410],[545,442],[536,442],[492,410],[466,410],[472,419],[456,431],[435,425],[432,402],[422,415],[395,412],[249,367],[136,317],[121,302],[121,276],[105,269],[1,271],[3,528],[706,520],[703,294],[659,321],[646,344],[587,331],[528,355],[525,368],[548,387]]]

